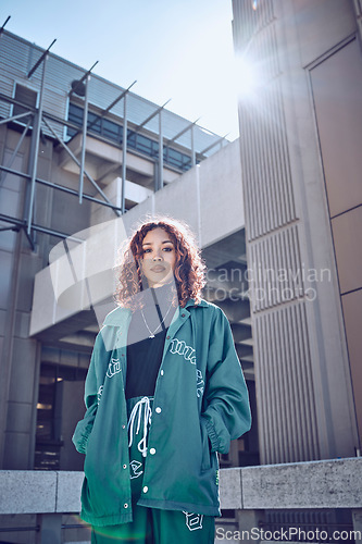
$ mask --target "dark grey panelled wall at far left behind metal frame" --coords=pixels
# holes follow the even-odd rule
[[[18,137],[7,126],[0,127],[2,164],[9,165]],[[12,163],[14,170],[27,171],[29,149],[30,137],[26,137]],[[40,144],[38,177],[61,177],[58,156],[49,140]],[[2,173],[0,213],[27,218],[27,185],[20,176]],[[88,224],[87,203],[80,208],[74,197],[39,184],[36,191],[36,224],[70,233]],[[5,225],[10,226],[2,223]],[[40,366],[40,344],[28,336],[34,277],[48,264],[49,250],[59,238],[37,233],[33,251],[24,231],[0,232],[0,466],[9,469],[33,467]]]

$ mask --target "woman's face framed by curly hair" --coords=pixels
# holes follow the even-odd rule
[[[170,234],[161,227],[149,231],[142,242],[142,273],[150,287],[160,287],[173,279],[176,250]]]

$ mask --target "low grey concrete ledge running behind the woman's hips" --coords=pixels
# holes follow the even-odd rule
[[[83,472],[0,470],[1,514],[80,510]],[[222,469],[223,509],[362,508],[362,458]]]

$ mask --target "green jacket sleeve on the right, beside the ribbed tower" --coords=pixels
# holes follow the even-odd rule
[[[251,428],[249,394],[232,329],[217,308],[211,326],[205,384],[204,419],[211,452],[227,454],[230,441]]]

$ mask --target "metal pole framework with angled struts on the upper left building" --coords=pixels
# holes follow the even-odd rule
[[[0,28],[0,38],[1,38],[2,33],[3,33],[4,26],[9,20],[10,20],[10,16],[7,18],[7,21],[4,22],[4,24]],[[1,214],[0,221],[11,223],[14,226],[13,227],[11,227],[11,226],[3,227],[3,228],[0,228],[0,231],[7,231],[7,230],[21,231],[21,230],[24,230],[33,250],[36,247],[35,234],[38,232],[51,234],[53,236],[58,236],[61,238],[76,239],[76,238],[70,236],[68,234],[53,231],[51,228],[47,228],[47,227],[43,227],[41,225],[37,225],[34,223],[34,208],[35,208],[35,203],[36,203],[36,184],[37,183],[47,185],[47,186],[52,187],[52,188],[58,189],[58,190],[65,191],[70,195],[77,196],[80,205],[82,205],[83,200],[85,199],[85,200],[97,202],[97,203],[100,203],[102,206],[111,208],[117,217],[120,217],[121,214],[126,212],[126,209],[125,209],[125,183],[126,183],[126,169],[127,169],[127,139],[133,134],[139,133],[155,115],[159,115],[159,157],[158,157],[158,161],[155,163],[157,169],[155,169],[155,175],[154,175],[154,190],[155,191],[160,190],[163,187],[163,152],[164,152],[164,149],[168,149],[173,143],[175,143],[180,136],[183,136],[188,131],[190,131],[190,138],[191,138],[191,165],[194,166],[196,164],[194,129],[195,129],[195,126],[199,120],[197,120],[192,123],[189,123],[185,128],[183,128],[180,132],[178,132],[173,138],[164,141],[162,113],[163,113],[165,106],[170,102],[170,100],[167,100],[163,106],[157,108],[155,111],[153,113],[151,113],[145,121],[142,121],[135,128],[133,128],[130,131],[129,135],[127,134],[128,133],[128,131],[127,131],[127,126],[128,126],[127,96],[128,96],[130,88],[137,83],[135,81],[126,89],[124,89],[122,91],[122,94],[118,95],[115,98],[115,100],[113,100],[113,102],[108,108],[102,110],[102,112],[100,114],[100,118],[104,118],[116,103],[118,103],[122,99],[124,100],[124,103],[123,103],[123,141],[122,141],[121,187],[118,186],[118,190],[117,190],[118,196],[117,196],[116,206],[112,205],[112,202],[108,199],[107,195],[102,191],[101,187],[89,175],[89,173],[86,171],[86,168],[85,168],[87,134],[88,134],[88,131],[93,126],[93,124],[96,124],[98,122],[98,120],[95,120],[90,124],[88,123],[89,81],[90,81],[90,76],[91,76],[91,71],[98,64],[98,61],[95,62],[95,64],[78,81],[78,85],[80,85],[85,82],[80,160],[78,160],[75,157],[73,151],[66,145],[66,143],[63,141],[63,139],[61,139],[59,137],[59,135],[55,133],[55,131],[51,126],[50,122],[54,122],[58,124],[62,124],[63,126],[71,126],[73,128],[76,128],[76,131],[77,131],[76,134],[79,134],[79,132],[80,132],[78,126],[76,126],[74,123],[71,123],[66,120],[62,120],[62,119],[59,119],[52,114],[48,114],[47,112],[43,112],[43,97],[45,97],[45,88],[46,88],[47,61],[49,58],[50,49],[54,45],[55,41],[57,40],[54,39],[50,44],[48,49],[42,52],[42,54],[36,61],[34,66],[27,73],[27,78],[29,79],[34,75],[34,73],[39,69],[39,66],[42,67],[40,90],[38,91],[39,92],[39,100],[38,100],[37,108],[28,107],[26,104],[23,104],[18,100],[15,100],[11,97],[8,97],[5,95],[0,94],[0,100],[7,101],[7,102],[12,103],[12,104],[22,106],[23,108],[25,106],[27,109],[27,111],[25,111],[23,113],[0,120],[0,125],[5,124],[5,123],[8,124],[8,123],[11,123],[13,121],[20,121],[23,118],[29,116],[29,120],[27,121],[27,124],[24,127],[24,129],[20,136],[18,143],[10,157],[8,165],[7,166],[0,165],[0,185],[1,185],[1,183],[4,182],[4,178],[5,178],[7,174],[9,174],[9,173],[14,174],[14,175],[18,175],[18,176],[25,178],[26,181],[30,182],[26,186],[26,200],[25,200],[24,219],[18,220],[17,218],[11,218],[11,217]],[[68,97],[71,97],[76,91],[77,91],[77,86],[75,86],[74,88],[71,88],[68,91]],[[17,154],[17,152],[18,152],[18,150],[24,141],[25,136],[28,134],[28,131],[29,131],[32,124],[33,124],[33,127],[32,127],[32,141],[30,141],[30,150],[29,150],[28,173],[18,172],[16,170],[12,169],[12,164],[13,164],[15,157],[16,157],[16,154]],[[51,135],[54,137],[54,139],[66,150],[66,152],[72,158],[72,160],[79,166],[78,190],[63,187],[63,186],[58,185],[55,183],[41,180],[37,176],[39,143],[40,143],[40,138],[42,137],[42,133],[41,133],[41,125],[42,124],[48,128],[48,131],[51,133]],[[224,139],[225,139],[225,136],[223,138],[217,139],[216,141],[214,141],[212,145],[210,145],[208,148],[205,148],[203,151],[201,151],[198,154],[202,157],[207,151],[209,151],[215,145],[221,144],[221,146],[222,146]],[[90,197],[90,196],[84,194],[84,177],[85,176],[88,178],[88,181],[91,183],[91,185],[96,188],[96,190],[99,193],[99,195],[102,197],[102,199]],[[79,242],[82,242],[82,240],[79,240]]]

